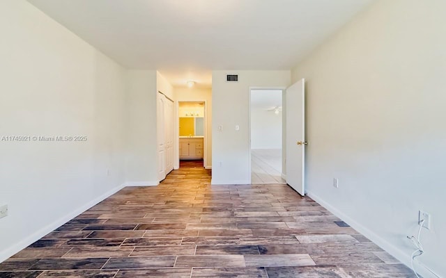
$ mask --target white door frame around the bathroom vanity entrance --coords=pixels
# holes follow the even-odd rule
[[[203,103],[204,106],[204,138],[203,138],[203,167],[206,168],[206,161],[208,157],[207,152],[207,146],[208,146],[208,115],[207,115],[207,107],[208,104],[206,104],[206,99],[197,99],[197,100],[180,100],[177,99],[176,101],[176,108],[175,108],[175,115],[176,118],[175,126],[174,126],[174,170],[178,170],[180,168],[180,102],[192,102],[192,103]]]

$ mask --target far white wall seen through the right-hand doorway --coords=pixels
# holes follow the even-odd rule
[[[251,149],[282,149],[282,111],[251,109]]]

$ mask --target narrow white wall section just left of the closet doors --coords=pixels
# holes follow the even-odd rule
[[[153,186],[157,180],[157,123],[155,70],[128,71],[128,185]]]

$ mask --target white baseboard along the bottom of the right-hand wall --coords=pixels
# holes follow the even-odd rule
[[[322,198],[318,197],[317,195],[314,195],[312,192],[307,190],[308,197],[314,199],[318,204],[323,206],[324,208],[327,208],[330,213],[333,213],[338,218],[341,218],[344,222],[349,224],[353,229],[360,232],[362,235],[369,238],[369,240],[373,241],[376,245],[378,245],[380,248],[394,256],[396,259],[404,263],[405,265],[410,268],[410,254],[406,254],[396,246],[392,245],[392,243],[388,242],[384,238],[381,238],[378,236],[374,231],[371,231],[369,228],[364,227],[360,222],[357,222],[353,218],[350,218],[345,213],[339,211],[339,209],[335,208],[334,206],[328,204],[328,202],[325,202]],[[422,263],[419,263],[418,261],[415,261],[415,270],[417,270],[418,274],[422,275],[424,278],[437,278],[435,275],[429,271],[429,268],[427,268]]]

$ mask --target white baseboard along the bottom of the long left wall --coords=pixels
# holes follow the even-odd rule
[[[77,215],[83,213],[84,211],[91,208],[92,206],[95,206],[95,204],[98,204],[99,202],[102,202],[104,199],[107,199],[108,197],[114,195],[114,193],[118,192],[119,190],[121,190],[124,187],[125,187],[125,184],[122,184],[121,186],[116,186],[112,190],[107,191],[107,193],[104,193],[104,194],[100,195],[99,197],[91,200],[90,202],[84,204],[83,206],[80,206],[72,213],[68,213],[67,215],[64,215],[63,217],[59,218],[58,220],[52,222],[51,224],[48,224],[46,227],[43,227],[42,229],[35,231],[33,234],[27,236],[20,242],[15,243],[15,245],[9,247],[8,249],[2,250],[0,252],[0,263],[2,261],[5,261],[6,259],[8,259],[10,256],[13,256],[20,250],[23,250],[25,247],[31,245],[31,243],[36,242],[36,240],[43,238],[43,236],[46,236],[50,232],[61,227],[61,225],[72,220],[72,218],[75,218]]]

